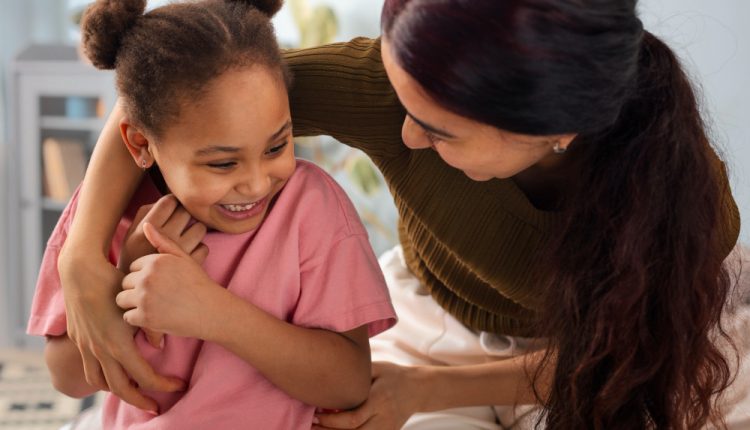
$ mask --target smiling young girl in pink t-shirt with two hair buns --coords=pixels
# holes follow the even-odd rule
[[[279,7],[207,0],[143,15],[145,1],[102,0],[87,11],[85,49],[116,68],[127,149],[161,173],[120,221],[110,257],[129,273],[112,299],[133,326],[167,334],[153,346],[139,331],[136,343],[176,389],[140,387],[153,399],[146,411],[108,395],[104,428],[303,429],[315,406],[367,396],[368,336],[395,314],[343,191],[294,159],[269,21]],[[159,199],[166,190],[174,197]],[[66,336],[56,271],[76,203],[49,241],[29,332],[48,338],[55,386],[79,397],[97,387]],[[138,258],[149,244],[160,253]]]

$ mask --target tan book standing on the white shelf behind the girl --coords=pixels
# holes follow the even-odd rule
[[[85,145],[76,139],[48,137],[42,142],[44,193],[67,202],[86,173]]]

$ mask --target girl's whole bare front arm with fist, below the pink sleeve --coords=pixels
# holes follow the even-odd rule
[[[367,327],[345,333],[279,320],[223,288],[151,224],[143,231],[161,254],[136,260],[117,304],[130,324],[214,342],[287,394],[331,409],[364,402],[370,387]]]

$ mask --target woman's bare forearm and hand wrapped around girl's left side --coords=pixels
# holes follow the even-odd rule
[[[141,409],[156,410],[130,382],[157,391],[176,391],[183,383],[165,378],[138,354],[134,329],[114,303],[122,273],[108,260],[118,221],[141,178],[120,138],[119,102],[104,126],[79,193],[75,219],[58,259],[65,297],[68,336],[80,350],[86,381],[108,389]]]

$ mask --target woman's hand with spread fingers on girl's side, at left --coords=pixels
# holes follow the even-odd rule
[[[121,290],[122,272],[102,258],[77,260],[75,253],[60,254],[58,268],[65,297],[67,332],[81,352],[86,382],[111,391],[127,403],[157,411],[157,404],[138,391],[180,391],[185,383],[156,374],[140,356],[133,340],[135,329],[122,320],[114,297]],[[83,287],[82,287],[83,286]]]

